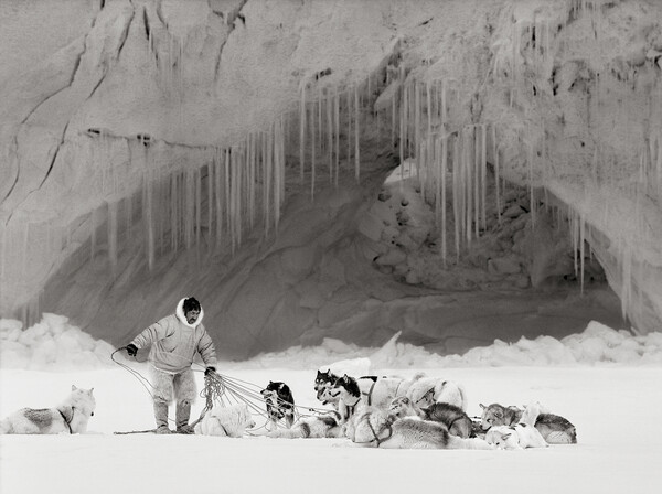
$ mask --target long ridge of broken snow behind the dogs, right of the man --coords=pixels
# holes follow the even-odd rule
[[[396,333],[378,348],[365,348],[324,339],[317,347],[293,346],[286,352],[258,355],[246,365],[258,367],[298,367],[331,370],[334,374],[360,369],[354,375],[366,375],[380,369],[437,367],[504,367],[504,366],[662,366],[662,333],[638,336],[628,331],[616,331],[591,321],[579,334],[562,340],[538,336],[520,339],[516,343],[495,340],[490,346],[471,348],[463,355],[440,356],[425,348],[397,341]]]

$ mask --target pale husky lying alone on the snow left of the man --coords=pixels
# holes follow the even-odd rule
[[[78,434],[87,431],[94,415],[94,388],[72,385],[71,395],[55,408],[21,408],[0,421],[3,434]]]

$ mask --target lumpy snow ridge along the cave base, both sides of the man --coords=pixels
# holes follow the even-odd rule
[[[398,342],[395,333],[381,347],[361,347],[324,339],[320,346],[292,346],[285,352],[260,354],[232,368],[318,368],[333,374],[367,375],[386,368],[503,367],[503,366],[662,366],[662,333],[632,335],[591,321],[579,334],[562,340],[524,336],[516,343],[495,340],[490,346],[463,355],[440,356]],[[41,322],[22,329],[20,321],[0,320],[0,367],[34,370],[70,370],[111,365],[113,345],[94,340],[63,315],[44,313]]]

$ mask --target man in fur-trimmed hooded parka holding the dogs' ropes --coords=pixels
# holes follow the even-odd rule
[[[170,433],[168,406],[177,401],[177,432],[190,434],[191,404],[197,395],[191,364],[195,352],[200,353],[205,375],[216,370],[216,351],[212,339],[202,325],[204,311],[193,297],[183,298],[174,314],[146,327],[126,346],[127,353],[135,356],[138,348],[151,344],[149,362],[153,386],[154,419],[157,433]]]

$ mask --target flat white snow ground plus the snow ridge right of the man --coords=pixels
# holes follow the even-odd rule
[[[619,334],[622,340],[617,345]],[[2,417],[22,407],[55,406],[72,384],[94,387],[97,408],[86,434],[0,437],[0,493],[658,492],[662,486],[660,333],[626,336],[591,324],[563,342],[547,336],[520,347],[505,345],[512,355],[526,355],[520,361],[511,356],[508,365],[499,342],[481,348],[479,361],[467,355],[430,356],[395,341],[383,348],[328,342],[325,347],[299,347],[220,365],[222,374],[258,386],[282,380],[291,387],[297,405],[317,408],[321,407],[312,387],[317,368],[345,357],[345,367],[367,364],[373,373],[410,377],[424,370],[461,383],[470,416],[479,414],[479,402],[540,400],[577,428],[578,444],[523,451],[381,450],[360,448],[346,439],[270,439],[259,437],[265,431],[259,416],[256,436],[242,439],[116,436],[113,432],[153,427],[148,393],[124,368],[107,363],[94,366],[89,361],[73,369],[62,362],[41,369],[3,365]],[[583,359],[554,363],[545,356],[545,347],[558,352],[572,342],[586,350]],[[609,347],[639,348],[640,358],[615,361],[613,354],[606,356]],[[146,374],[147,364],[130,365]],[[201,370],[199,365],[194,368]],[[202,372],[196,377],[202,387]],[[199,400],[193,418],[203,405]],[[306,408],[299,411],[307,412]]]

